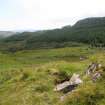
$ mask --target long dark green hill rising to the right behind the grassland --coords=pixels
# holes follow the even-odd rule
[[[86,18],[73,26],[65,26],[61,29],[23,32],[5,38],[0,42],[0,46],[22,50],[78,46],[81,43],[105,46],[105,17]],[[5,47],[7,45],[8,47]]]

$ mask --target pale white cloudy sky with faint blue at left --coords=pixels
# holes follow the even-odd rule
[[[60,28],[104,16],[105,0],[0,0],[0,31]]]

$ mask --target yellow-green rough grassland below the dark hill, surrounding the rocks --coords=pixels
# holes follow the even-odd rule
[[[80,57],[86,57],[80,60]],[[63,102],[61,92],[54,92],[54,73],[71,76],[84,73],[92,61],[105,65],[102,49],[71,47],[0,53],[0,105],[104,105],[105,78],[96,83],[83,77],[74,93]],[[63,77],[62,77],[63,78]]]

